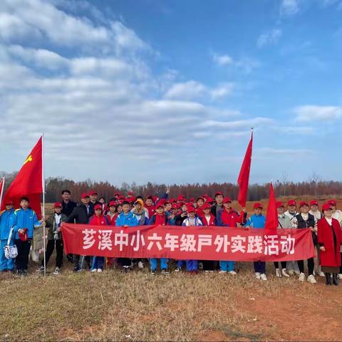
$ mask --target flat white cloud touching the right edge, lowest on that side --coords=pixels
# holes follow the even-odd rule
[[[342,107],[328,105],[301,105],[294,108],[296,114],[296,121],[315,123],[315,120],[333,121],[341,118]]]

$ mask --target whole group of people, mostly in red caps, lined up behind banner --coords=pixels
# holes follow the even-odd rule
[[[232,207],[232,200],[224,197],[222,192],[217,192],[214,199],[208,195],[202,195],[197,199],[187,199],[180,195],[173,199],[168,199],[169,191],[162,196],[148,196],[145,201],[141,196],[135,197],[132,192],[127,197],[120,193],[115,194],[107,203],[104,197],[98,198],[96,191],[90,194],[83,193],[81,202],[71,201],[71,192],[63,190],[61,202],[53,205],[53,213],[48,219],[38,220],[35,212],[29,207],[29,199],[22,197],[20,208],[14,210],[13,203],[5,203],[6,209],[0,216],[0,271],[12,271],[16,269],[16,275],[26,276],[28,269],[28,254],[31,248],[31,240],[35,227],[43,224],[48,227],[48,243],[46,246],[46,264],[48,264],[53,251],[56,249],[56,269],[54,274],[61,273],[63,266],[63,239],[61,226],[63,222],[76,224],[96,224],[112,225],[117,227],[135,227],[138,225],[161,224],[179,225],[184,227],[197,226],[221,226],[221,227],[251,227],[264,228],[266,217],[262,214],[261,203],[253,205],[254,214],[247,218],[247,211],[242,208],[237,212]],[[318,250],[318,275],[326,276],[326,284],[338,284],[338,279],[342,279],[342,212],[336,208],[336,201],[331,199],[321,208],[318,202],[312,200],[299,203],[299,212],[294,199],[287,203],[287,210],[281,202],[276,203],[278,211],[279,229],[309,228],[312,232],[313,243]],[[4,256],[4,246],[6,244],[16,244],[18,256],[15,259],[6,259]],[[105,266],[104,257],[81,257],[74,254],[67,256],[73,262],[74,271],[78,272],[85,268],[92,272],[102,272]],[[39,271],[44,270],[44,261],[41,261]],[[149,259],[150,273],[157,271],[157,259]],[[107,258],[107,266],[118,264],[123,271],[129,271],[134,264],[138,268],[144,267],[141,259],[128,258]],[[221,274],[237,274],[234,261],[210,261],[210,260],[177,260],[175,271],[185,269],[196,274],[200,268],[204,272],[213,272],[218,269]],[[314,273],[314,258],[307,260],[308,276],[304,274],[304,260],[274,262],[276,276],[289,277],[298,275],[299,281],[309,281],[316,284]],[[160,269],[162,274],[169,274],[169,260],[160,259]],[[266,281],[266,263],[264,261],[254,262],[254,272],[257,279]],[[317,273],[316,272],[316,273]]]

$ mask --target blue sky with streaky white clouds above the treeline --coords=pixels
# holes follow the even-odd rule
[[[0,1],[1,170],[341,180],[342,0]]]

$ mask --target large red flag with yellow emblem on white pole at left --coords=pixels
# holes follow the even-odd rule
[[[26,158],[24,165],[14,178],[4,196],[4,201],[11,200],[19,208],[20,197],[30,199],[30,207],[41,217],[41,194],[43,193],[43,137]]]

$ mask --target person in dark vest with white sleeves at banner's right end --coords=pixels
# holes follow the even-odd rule
[[[312,233],[312,239],[314,242],[314,246],[317,244],[317,220],[315,219],[314,215],[309,214],[309,204],[308,202],[302,201],[299,204],[300,213],[296,214],[294,219],[292,219],[292,228],[298,229],[305,229],[309,228]],[[299,266],[299,281],[305,281],[305,274],[304,274],[304,260],[297,261]],[[308,278],[307,281],[311,284],[316,284],[317,281],[314,276],[314,258],[308,259]]]

